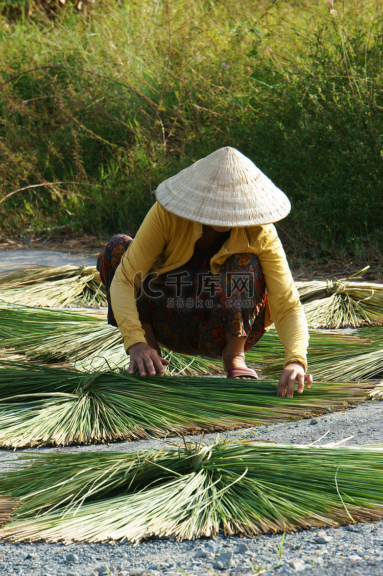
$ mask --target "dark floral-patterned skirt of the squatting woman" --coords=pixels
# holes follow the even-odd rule
[[[108,323],[117,326],[110,285],[121,257],[132,238],[117,234],[97,260],[97,270],[106,286]],[[219,252],[217,239],[206,250],[177,270],[150,275],[141,283],[137,310],[142,324],[151,324],[160,346],[174,352],[220,358],[226,334],[246,336],[245,351],[255,346],[265,332],[265,279],[254,254],[228,257],[218,274],[212,274],[210,259]]]

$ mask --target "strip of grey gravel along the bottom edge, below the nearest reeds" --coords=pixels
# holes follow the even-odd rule
[[[281,554],[279,553],[280,547]],[[383,522],[256,538],[175,543],[1,544],[0,573],[33,576],[118,574],[383,574]]]

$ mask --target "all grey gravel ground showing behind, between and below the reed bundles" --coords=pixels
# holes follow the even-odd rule
[[[93,263],[93,260],[61,252],[47,252],[49,260],[42,262],[42,254],[39,251],[39,263],[51,266]],[[32,251],[1,253],[1,266],[35,262]],[[237,430],[221,435],[221,438],[248,438],[288,444],[316,442],[317,445],[347,438],[346,445],[383,444],[382,416],[383,403],[368,402],[352,410],[329,412],[315,419],[287,424]],[[205,438],[213,436],[216,437],[206,435]],[[136,452],[162,445],[163,442],[148,439],[110,446],[73,446],[65,451]],[[46,448],[36,452],[50,450]],[[0,451],[2,467],[7,467],[12,458],[14,453]],[[279,534],[254,538],[217,536],[215,539],[182,543],[151,540],[135,546],[127,543],[64,545],[9,544],[0,541],[0,576],[271,576],[296,573],[302,576],[372,576],[383,574],[382,560],[383,521],[301,530],[287,534],[284,540]]]

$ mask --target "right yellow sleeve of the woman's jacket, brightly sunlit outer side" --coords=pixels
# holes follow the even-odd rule
[[[271,316],[284,346],[284,366],[301,362],[307,371],[307,320],[274,226],[269,228],[257,256],[265,277]]]

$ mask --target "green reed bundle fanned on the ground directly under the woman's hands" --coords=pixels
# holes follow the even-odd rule
[[[311,418],[366,399],[370,382],[315,384],[293,399],[277,381],[142,378],[0,362],[0,446],[90,444]]]

